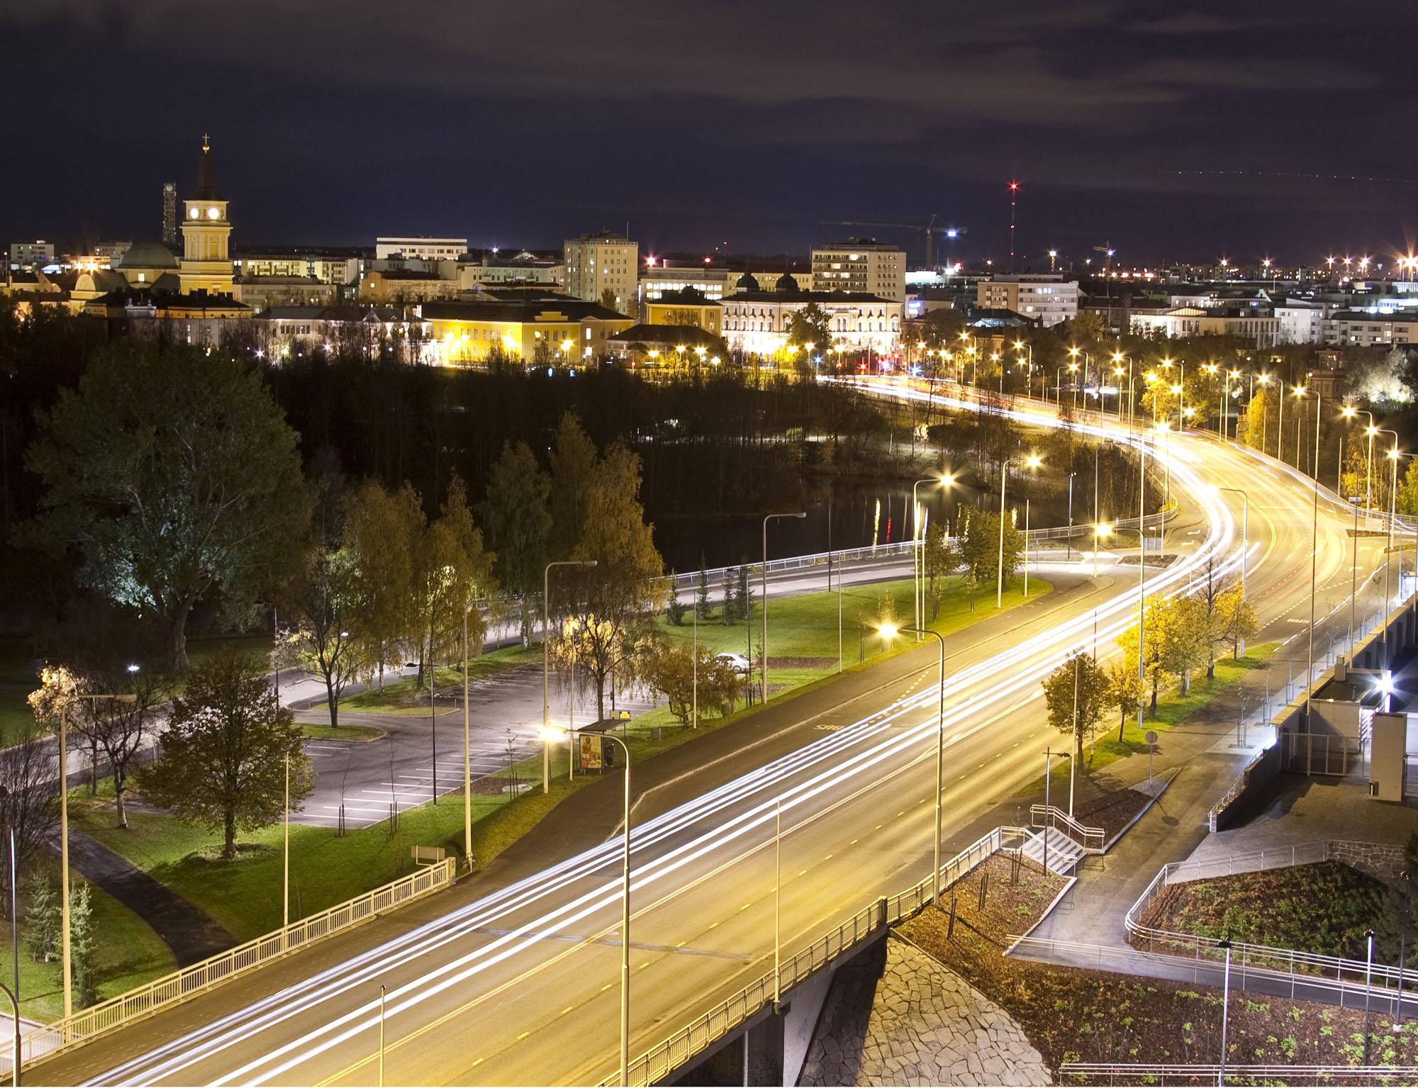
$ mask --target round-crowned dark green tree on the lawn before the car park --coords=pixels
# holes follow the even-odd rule
[[[218,650],[196,666],[173,698],[162,756],[139,775],[143,793],[180,819],[223,833],[221,856],[237,856],[237,830],[255,830],[299,809],[315,772],[301,727],[279,706],[261,657]]]

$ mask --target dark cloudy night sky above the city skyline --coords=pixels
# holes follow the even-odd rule
[[[157,237],[210,132],[238,249],[771,254],[939,212],[1007,261],[1011,178],[1021,264],[1418,245],[1411,0],[0,0],[0,35],[6,241]]]

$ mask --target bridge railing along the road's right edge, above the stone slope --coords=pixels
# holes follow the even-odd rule
[[[940,867],[942,887],[949,887],[991,854],[1028,836],[1029,832],[1024,827],[995,827]],[[930,902],[930,895],[932,878],[927,876],[905,891],[876,900],[871,907],[864,907],[825,936],[818,938],[791,958],[784,959],[780,968],[777,990],[790,990],[814,972],[828,966],[844,953],[854,951],[866,938],[876,936],[888,926],[909,918]],[[658,1084],[666,1078],[695,1055],[702,1054],[716,1041],[771,1004],[776,993],[773,983],[771,972],[754,979],[737,993],[713,1006],[709,1012],[695,1017],[686,1027],[679,1028],[679,1031],[665,1041],[645,1051],[638,1058],[631,1060],[625,1082],[645,1085]],[[618,1077],[618,1071],[613,1072],[600,1084],[603,1087],[615,1084]]]

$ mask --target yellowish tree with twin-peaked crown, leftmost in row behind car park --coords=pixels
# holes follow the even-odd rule
[[[423,502],[411,484],[390,493],[370,480],[350,496],[345,540],[352,552],[352,622],[381,688],[386,667],[406,660],[396,653],[408,630],[414,547],[424,526]]]

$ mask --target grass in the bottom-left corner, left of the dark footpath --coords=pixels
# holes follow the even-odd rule
[[[84,878],[74,874],[74,885]],[[58,880],[55,878],[55,884]],[[21,884],[21,890],[23,890]],[[140,986],[177,968],[167,945],[142,918],[118,900],[94,887],[94,932],[96,941],[96,975],[99,999]],[[35,1020],[58,1020],[64,1014],[64,987],[60,962],[37,963],[23,946],[24,910],[20,926],[20,1013]],[[10,986],[14,979],[9,922],[0,924],[0,979]],[[6,1014],[10,1007],[6,1003]]]

